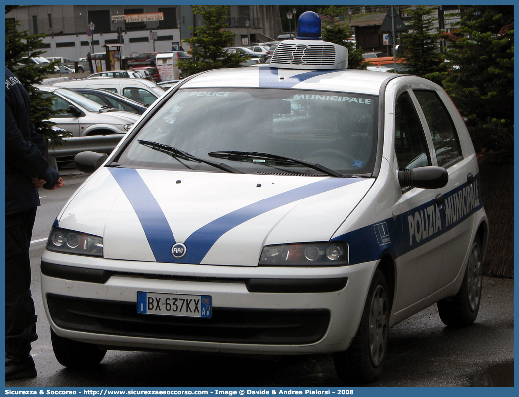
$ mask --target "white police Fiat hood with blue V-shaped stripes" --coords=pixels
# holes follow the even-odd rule
[[[107,259],[256,266],[265,245],[330,240],[373,181],[103,167],[58,222]]]

